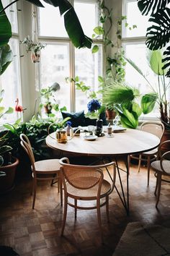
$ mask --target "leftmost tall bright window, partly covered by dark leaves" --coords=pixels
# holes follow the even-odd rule
[[[6,7],[11,1],[2,0],[2,4]],[[12,48],[12,53],[14,55],[13,61],[9,64],[4,74],[0,76],[0,90],[4,90],[3,101],[1,101],[1,106],[4,106],[7,110],[9,106],[15,106],[15,101],[20,98],[20,81],[19,81],[19,36],[17,27],[17,7],[16,4],[12,4],[11,7],[6,9],[6,15],[12,24],[13,36],[9,40],[9,45]],[[21,102],[21,101],[20,101]],[[0,124],[6,122],[14,122],[20,116],[14,111],[13,114],[6,114],[1,117]]]

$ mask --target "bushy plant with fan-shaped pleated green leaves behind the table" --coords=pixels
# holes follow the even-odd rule
[[[156,98],[155,93],[140,95],[136,88],[125,83],[112,82],[104,88],[103,103],[105,106],[113,106],[123,127],[136,129],[139,116],[153,110]]]

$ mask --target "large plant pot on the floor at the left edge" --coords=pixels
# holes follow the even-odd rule
[[[6,173],[6,176],[0,177],[0,195],[14,189],[14,177],[16,168],[19,164],[18,158],[12,158],[13,163],[8,166],[1,166],[0,170]]]

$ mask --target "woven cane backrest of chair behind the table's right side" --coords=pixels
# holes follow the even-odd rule
[[[140,130],[156,135],[160,140],[164,134],[164,124],[158,121],[145,121],[140,125]]]

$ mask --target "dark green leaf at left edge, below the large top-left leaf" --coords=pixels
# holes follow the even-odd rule
[[[13,55],[9,45],[6,44],[0,48],[0,75],[4,73],[6,68],[12,62]]]

